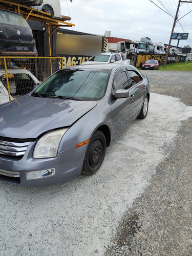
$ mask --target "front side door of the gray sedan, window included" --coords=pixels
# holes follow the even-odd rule
[[[132,89],[126,98],[115,98],[113,93],[118,89],[130,90],[129,78],[125,68],[116,71],[112,84],[111,110],[113,120],[114,137],[116,137],[124,127],[132,121],[134,115],[134,100]]]

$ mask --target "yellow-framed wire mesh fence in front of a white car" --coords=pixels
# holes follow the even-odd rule
[[[29,93],[60,68],[61,57],[0,56],[0,104]]]

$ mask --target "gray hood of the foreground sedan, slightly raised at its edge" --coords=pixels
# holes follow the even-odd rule
[[[30,139],[72,125],[93,109],[97,101],[38,98],[29,95],[0,105],[0,136]]]

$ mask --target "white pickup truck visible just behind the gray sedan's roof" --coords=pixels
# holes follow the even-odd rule
[[[101,55],[92,56],[88,61],[84,61],[81,65],[103,63],[123,63],[130,65],[130,59],[125,59],[123,55],[116,52],[101,53]]]

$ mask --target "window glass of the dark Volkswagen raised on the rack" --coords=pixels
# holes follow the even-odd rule
[[[0,10],[0,23],[30,28],[22,15],[2,10]]]

